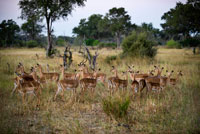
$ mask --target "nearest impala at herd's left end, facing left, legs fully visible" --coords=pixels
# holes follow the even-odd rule
[[[40,104],[40,83],[36,81],[24,81],[23,78],[16,73],[17,75],[17,87],[16,90],[22,95],[22,102],[24,103],[25,95],[27,93],[34,94],[37,97],[37,106]]]

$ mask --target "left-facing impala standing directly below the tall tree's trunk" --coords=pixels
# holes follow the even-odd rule
[[[45,82],[47,82],[47,80],[58,82],[60,76],[58,73],[44,73],[40,64],[37,64],[36,69],[39,69],[40,79],[44,79]]]

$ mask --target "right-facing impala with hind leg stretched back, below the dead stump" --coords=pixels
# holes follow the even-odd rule
[[[59,80],[58,83],[57,83],[58,89],[57,89],[56,94],[54,96],[54,100],[56,99],[56,97],[60,93],[60,91],[62,91],[62,97],[64,95],[64,90],[72,89],[73,90],[73,94],[76,93],[76,88],[79,85],[79,78],[80,78],[80,74],[76,73],[74,79]]]

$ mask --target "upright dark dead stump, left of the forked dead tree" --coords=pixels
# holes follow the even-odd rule
[[[63,56],[63,66],[65,69],[69,68],[72,64],[72,52],[70,50],[70,46],[66,46]]]

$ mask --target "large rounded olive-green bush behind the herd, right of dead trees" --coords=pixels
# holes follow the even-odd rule
[[[123,56],[154,57],[156,49],[155,42],[150,40],[147,32],[136,33],[133,31],[122,42]]]

